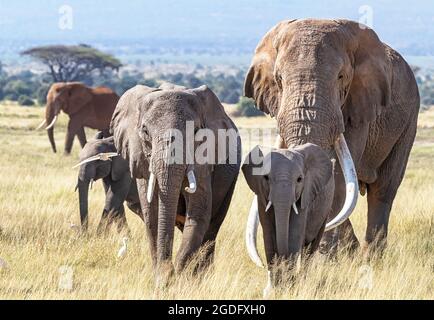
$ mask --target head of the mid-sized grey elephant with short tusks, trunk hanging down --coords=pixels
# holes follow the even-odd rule
[[[200,167],[185,161],[193,151],[186,147],[191,138],[187,137],[186,124],[193,126],[195,134],[200,128],[212,129],[226,121],[215,116],[224,114],[223,106],[206,86],[166,88],[136,86],[128,90],[119,100],[111,122],[116,148],[129,161],[132,176],[147,180],[147,202],[158,203],[159,266],[171,265],[180,193],[196,191],[196,169]],[[174,143],[174,132],[185,154],[181,152],[180,161],[171,162],[167,151]]]

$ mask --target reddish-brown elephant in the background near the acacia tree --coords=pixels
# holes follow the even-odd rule
[[[86,144],[84,127],[106,131],[108,135],[110,120],[119,96],[109,88],[89,88],[79,82],[54,83],[47,94],[45,120],[38,129],[47,125],[46,130],[53,152],[54,124],[62,110],[70,120],[66,132],[65,154],[71,153],[74,137],[77,135],[81,147]]]

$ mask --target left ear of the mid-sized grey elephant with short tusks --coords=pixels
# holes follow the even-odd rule
[[[114,144],[122,158],[128,161],[132,177],[147,178],[148,160],[138,135],[139,112],[147,94],[159,89],[135,86],[119,99],[110,123]]]

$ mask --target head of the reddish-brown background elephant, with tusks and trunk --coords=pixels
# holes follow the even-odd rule
[[[91,89],[79,82],[58,82],[54,83],[47,94],[47,108],[45,110],[45,120],[39,125],[38,129],[45,128],[48,139],[51,143],[53,152],[56,152],[56,142],[54,141],[54,125],[62,110],[69,116],[77,113],[92,100]]]

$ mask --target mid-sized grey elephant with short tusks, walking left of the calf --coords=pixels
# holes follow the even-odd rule
[[[184,204],[186,218],[176,270],[182,270],[205,244],[204,265],[210,263],[241,162],[238,130],[210,89],[167,84],[164,88],[136,86],[128,90],[119,100],[111,123],[116,148],[129,161],[131,174],[137,178],[157,286],[166,283],[173,272],[175,216],[180,203]],[[193,132],[189,133],[189,125]],[[193,158],[189,163],[184,157],[180,162],[167,161],[167,149],[176,141],[168,132],[179,133],[187,156],[199,150],[201,129],[216,138],[219,130],[227,134],[223,142],[229,143],[219,145],[227,148],[217,146],[217,140],[212,144],[216,158],[222,161],[198,163]],[[188,149],[186,142],[190,138],[196,142]]]

